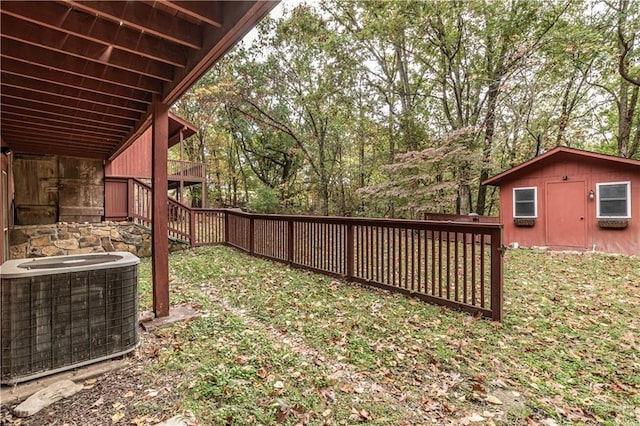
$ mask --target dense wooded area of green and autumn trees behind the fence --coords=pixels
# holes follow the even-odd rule
[[[210,206],[497,214],[480,182],[558,145],[640,158],[640,2],[280,7],[175,106]]]

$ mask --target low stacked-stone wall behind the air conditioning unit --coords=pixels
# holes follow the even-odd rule
[[[151,256],[151,230],[131,222],[66,223],[13,226],[9,232],[9,258],[128,251]],[[188,244],[169,242],[169,251]]]

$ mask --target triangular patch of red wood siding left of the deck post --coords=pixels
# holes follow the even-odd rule
[[[106,163],[105,175],[151,179],[151,127],[126,151]]]

